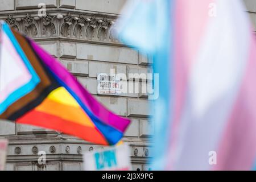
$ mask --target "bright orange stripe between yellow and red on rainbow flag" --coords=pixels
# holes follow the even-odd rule
[[[80,107],[61,104],[59,102],[49,100],[49,98],[46,98],[42,104],[35,108],[35,110],[55,115],[56,117],[75,122],[79,125],[94,127],[93,122]]]

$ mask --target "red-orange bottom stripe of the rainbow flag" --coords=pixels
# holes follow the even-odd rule
[[[103,135],[95,127],[82,126],[72,121],[67,121],[56,117],[55,115],[42,113],[40,111],[31,110],[16,122],[58,130],[89,142],[108,145],[108,142],[106,142]]]

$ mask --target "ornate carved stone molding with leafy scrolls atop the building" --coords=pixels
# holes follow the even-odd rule
[[[115,36],[114,20],[96,18],[95,15],[55,14],[32,16],[26,14],[22,18],[9,15],[6,22],[19,32],[31,38],[65,37],[100,42],[118,42]]]

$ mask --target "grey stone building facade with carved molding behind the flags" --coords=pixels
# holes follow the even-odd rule
[[[97,94],[97,73],[110,73],[110,69],[125,75],[152,72],[150,59],[119,43],[115,36],[115,19],[125,2],[0,0],[0,19],[56,57],[108,109],[131,119],[123,141],[130,146],[133,169],[148,170],[151,120],[147,95]],[[46,5],[46,14],[39,3]],[[102,147],[58,131],[6,121],[0,122],[0,138],[9,139],[7,170],[82,170],[82,153]],[[46,165],[38,164],[39,151],[46,152]]]

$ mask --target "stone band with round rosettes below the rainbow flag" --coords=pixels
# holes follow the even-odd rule
[[[38,159],[39,151],[46,152],[48,160],[73,159],[79,161],[84,152],[106,148],[96,144],[72,144],[72,143],[53,143],[53,144],[15,144],[9,145],[7,162],[17,160],[20,162],[33,162]],[[148,146],[130,146],[130,156],[134,158],[144,158],[151,156],[151,147]]]

